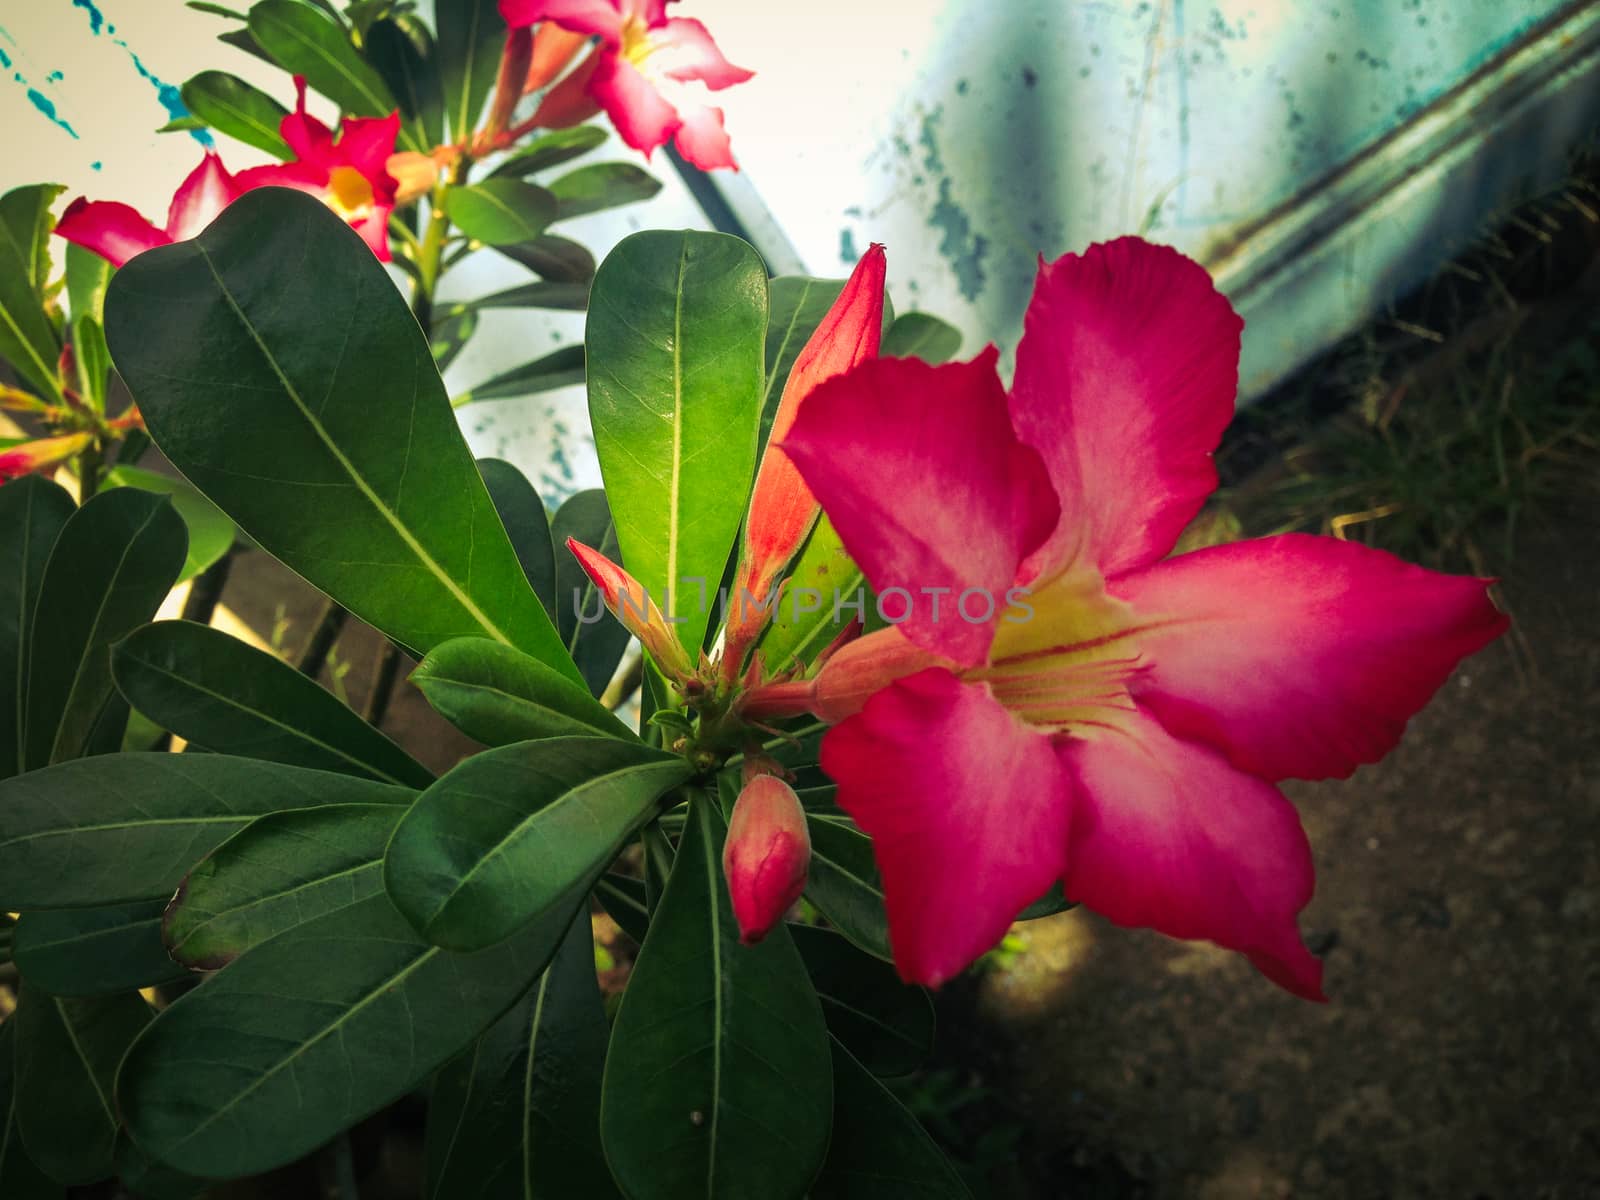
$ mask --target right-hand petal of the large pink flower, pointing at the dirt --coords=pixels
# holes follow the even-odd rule
[[[1184,554],[1110,590],[1152,622],[1138,699],[1267,779],[1378,762],[1509,626],[1482,579],[1294,533]]]

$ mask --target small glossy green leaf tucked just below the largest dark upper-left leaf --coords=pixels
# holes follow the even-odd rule
[[[411,682],[440,717],[485,746],[597,733],[635,741],[634,731],[584,688],[488,638],[435,646]]]

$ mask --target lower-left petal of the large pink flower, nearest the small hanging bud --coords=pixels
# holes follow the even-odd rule
[[[1067,776],[981,683],[934,667],[885,688],[827,733],[822,770],[872,837],[909,982],[954,976],[1066,870]]]

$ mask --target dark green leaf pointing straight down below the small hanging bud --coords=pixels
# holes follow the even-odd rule
[[[627,1195],[792,1200],[822,1165],[827,1030],[789,933],[739,944],[699,794],[611,1030],[600,1136]]]

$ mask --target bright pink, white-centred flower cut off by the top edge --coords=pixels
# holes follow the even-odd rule
[[[669,18],[667,0],[499,0],[499,6],[512,29],[552,21],[600,38],[589,93],[635,150],[648,155],[675,138],[696,166],[736,168],[722,109],[685,99],[683,85],[720,91],[754,72],[728,62],[699,21]]]

